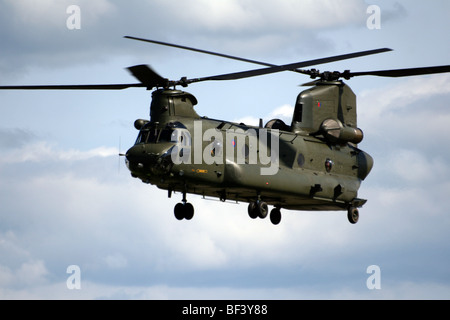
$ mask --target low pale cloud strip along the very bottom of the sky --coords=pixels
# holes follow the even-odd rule
[[[27,290],[0,289],[0,299],[144,299],[144,300],[309,300],[309,299],[442,299],[450,287],[433,282],[382,283],[380,290],[341,287],[324,292],[316,286],[234,288],[155,286],[110,286],[82,280],[80,290],[69,290],[65,282],[41,285]]]

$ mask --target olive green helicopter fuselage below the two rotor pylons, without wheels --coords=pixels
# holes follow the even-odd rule
[[[357,193],[372,158],[356,146],[186,112],[163,121],[141,120],[127,165],[133,177],[169,195],[180,191],[244,202],[259,197],[295,210],[345,210],[364,202]]]

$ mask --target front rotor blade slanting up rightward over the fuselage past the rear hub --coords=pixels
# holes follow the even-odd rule
[[[392,49],[381,48],[381,49],[375,49],[375,50],[360,51],[360,52],[343,54],[343,55],[332,56],[332,57],[327,57],[327,58],[290,63],[290,64],[274,66],[274,67],[269,67],[269,68],[255,69],[255,70],[235,72],[235,73],[227,73],[227,74],[204,77],[204,78],[194,78],[194,79],[188,79],[187,83],[208,81],[208,80],[243,79],[243,78],[260,76],[260,75],[264,75],[264,74],[271,74],[271,73],[276,73],[276,72],[281,72],[281,71],[294,70],[297,68],[303,68],[303,67],[313,66],[313,65],[322,64],[322,63],[334,62],[334,61],[345,60],[345,59],[352,59],[352,58],[362,57],[362,56],[366,56],[366,55],[382,53],[382,52],[386,52],[386,51],[392,51]]]

